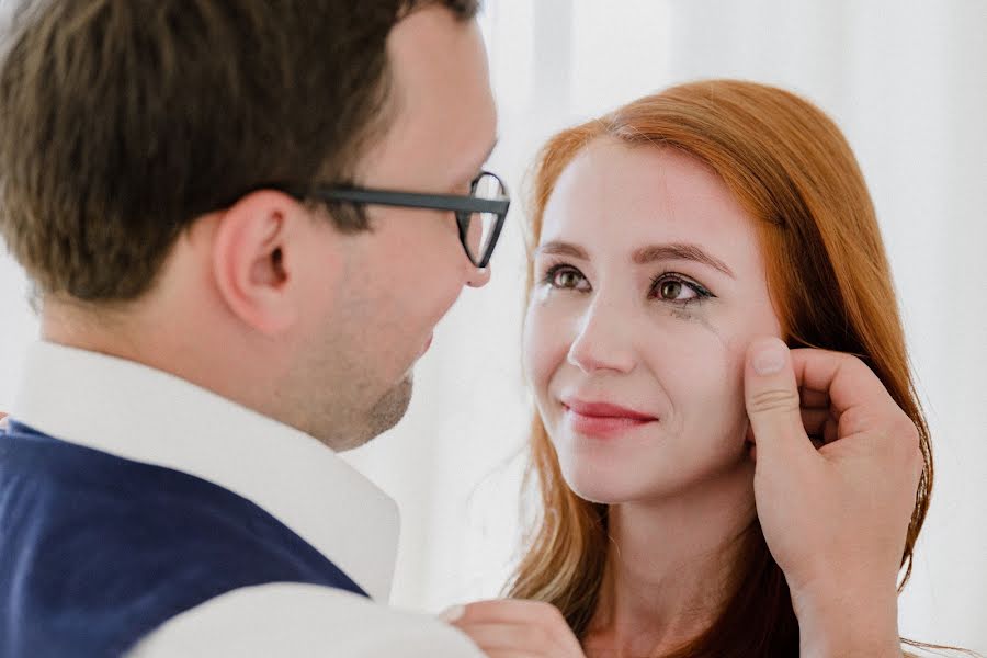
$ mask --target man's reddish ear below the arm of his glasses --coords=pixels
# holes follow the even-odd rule
[[[220,217],[213,241],[213,276],[230,313],[254,330],[277,336],[298,321],[299,259],[311,222],[281,192],[243,196]],[[303,286],[304,287],[304,286]]]

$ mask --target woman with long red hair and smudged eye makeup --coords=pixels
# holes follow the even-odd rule
[[[886,474],[921,470],[907,529],[887,509],[871,517],[886,524],[840,535],[847,565],[860,564],[854,536],[885,535],[890,552],[866,578],[886,605],[854,608],[846,591],[846,623],[880,626],[897,653],[895,598],[932,454],[874,207],[832,121],[763,84],[674,87],[553,137],[532,201],[524,360],[541,513],[509,595],[557,608],[568,646],[590,657],[798,656],[810,615],[799,592],[850,580],[839,563],[813,572],[792,559],[793,533],[821,532],[826,552],[832,535],[812,518],[772,525],[771,508],[799,492],[757,463],[750,411],[771,400],[745,399],[746,354],[769,336],[793,362],[828,350],[841,368],[869,368],[914,426],[921,460]],[[843,438],[860,419],[799,383],[814,445],[791,453],[792,470],[852,461]],[[807,509],[867,506],[883,479]],[[499,655],[497,615],[483,610],[457,625]]]

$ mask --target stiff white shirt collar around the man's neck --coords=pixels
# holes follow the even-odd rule
[[[11,416],[50,436],[229,489],[373,599],[390,594],[397,506],[308,434],[162,371],[50,342],[31,345]]]

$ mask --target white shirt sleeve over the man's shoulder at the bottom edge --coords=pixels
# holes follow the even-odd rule
[[[481,658],[458,631],[342,590],[272,583],[217,597],[170,620],[131,654]]]

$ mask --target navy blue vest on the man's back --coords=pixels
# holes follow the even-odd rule
[[[227,489],[18,422],[0,431],[3,658],[118,656],[183,611],[268,582],[366,595]]]

